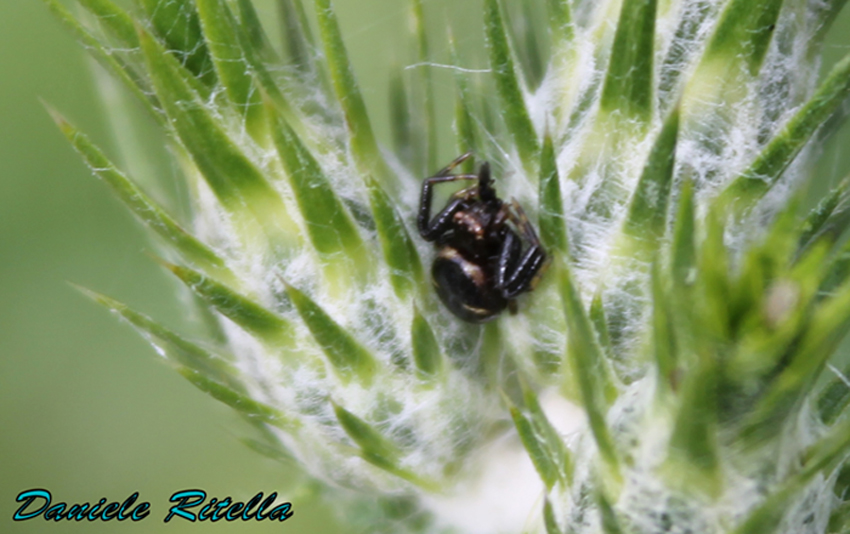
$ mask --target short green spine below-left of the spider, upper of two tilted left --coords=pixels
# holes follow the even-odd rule
[[[364,386],[371,384],[377,370],[372,354],[310,297],[289,284],[286,293],[340,376],[346,381],[356,377]]]

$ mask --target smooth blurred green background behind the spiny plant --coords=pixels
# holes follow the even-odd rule
[[[355,70],[376,131],[389,139],[387,71],[410,63],[408,2],[336,0]],[[461,47],[481,66],[479,2],[426,1],[439,30],[451,19]],[[272,1],[258,2],[275,20]],[[432,48],[445,60],[445,40]],[[832,31],[826,63],[850,42],[846,14]],[[450,74],[435,72],[440,160],[451,153]],[[175,284],[146,255],[145,232],[98,183],[55,128],[39,98],[109,149],[106,114],[80,46],[37,0],[0,2],[0,532],[353,532],[328,505],[301,499],[296,476],[243,446],[228,408],[163,365],[128,326],[68,285],[90,287],[179,326]],[[850,171],[845,129],[824,150],[825,187]],[[168,169],[159,164],[158,168]],[[816,196],[816,193],[814,193]],[[122,501],[133,492],[152,503],[139,523],[13,523],[15,496],[46,488],[54,501]],[[168,497],[202,488],[246,500],[277,491],[295,515],[283,524],[186,521],[163,524]]]

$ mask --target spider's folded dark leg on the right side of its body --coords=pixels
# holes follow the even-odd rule
[[[499,255],[496,287],[506,299],[512,299],[523,291],[530,291],[546,264],[546,251],[540,244],[540,239],[534,227],[528,222],[523,209],[514,200],[510,207],[504,208],[507,219],[516,225],[523,239],[528,241],[528,250],[522,254],[522,244],[519,237],[510,228],[505,233],[502,251]]]

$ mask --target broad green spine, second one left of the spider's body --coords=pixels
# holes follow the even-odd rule
[[[274,110],[267,110],[275,117]],[[363,265],[368,261],[363,239],[319,162],[284,120],[275,117],[273,123],[277,152],[319,256],[328,260],[343,253]]]

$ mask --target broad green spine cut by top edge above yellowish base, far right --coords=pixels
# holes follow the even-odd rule
[[[742,61],[758,74],[773,38],[783,0],[731,0],[703,53],[704,61]]]

